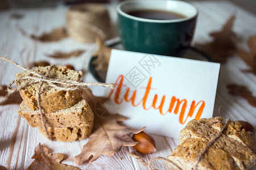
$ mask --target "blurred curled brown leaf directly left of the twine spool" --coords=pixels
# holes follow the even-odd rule
[[[65,27],[53,28],[51,32],[44,32],[40,36],[28,35],[28,33],[19,25],[18,29],[22,33],[22,35],[30,37],[33,40],[38,40],[42,42],[59,41],[61,39],[64,39],[65,37],[68,37],[68,33]]]

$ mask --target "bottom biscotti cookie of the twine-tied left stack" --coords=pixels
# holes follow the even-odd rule
[[[45,137],[46,132],[43,128],[38,128],[40,133],[42,133]],[[93,129],[93,122],[86,126],[74,126],[71,128],[47,128],[48,133],[52,140],[60,141],[60,142],[73,142],[81,139],[84,139],[90,135]]]

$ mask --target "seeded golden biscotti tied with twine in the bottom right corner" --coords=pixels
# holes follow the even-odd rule
[[[221,117],[192,120],[180,131],[180,145],[166,162],[169,169],[192,169],[196,159],[224,127]],[[228,128],[210,146],[201,158],[197,169],[249,169],[256,164],[256,141],[250,131],[231,121]]]

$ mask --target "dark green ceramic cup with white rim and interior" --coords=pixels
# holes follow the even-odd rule
[[[163,10],[184,15],[182,19],[155,20],[129,15],[133,10]],[[181,57],[196,27],[196,7],[183,1],[130,0],[117,6],[119,36],[126,50]]]

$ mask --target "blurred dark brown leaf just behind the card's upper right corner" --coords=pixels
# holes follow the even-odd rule
[[[198,48],[209,54],[216,62],[225,62],[228,57],[236,53],[236,43],[234,38],[236,34],[233,32],[233,24],[236,16],[232,15],[219,32],[212,32],[212,42],[207,44],[196,44]]]

